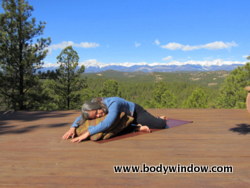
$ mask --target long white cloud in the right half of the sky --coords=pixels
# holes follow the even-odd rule
[[[191,50],[198,50],[198,49],[208,49],[208,50],[220,50],[238,46],[235,42],[222,42],[222,41],[215,41],[207,44],[202,45],[183,45],[176,42],[170,42],[166,45],[161,45],[162,48],[169,49],[169,50],[183,50],[183,51],[191,51]]]

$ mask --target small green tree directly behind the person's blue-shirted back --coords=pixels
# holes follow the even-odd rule
[[[115,80],[106,80],[103,83],[103,88],[100,92],[101,97],[120,96],[119,84]]]

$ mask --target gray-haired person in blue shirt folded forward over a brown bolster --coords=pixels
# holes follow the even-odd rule
[[[91,135],[107,130],[121,112],[134,118],[133,124],[138,125],[138,131],[150,132],[150,129],[166,128],[165,116],[155,117],[136,103],[120,97],[95,98],[91,102],[83,104],[82,114],[75,119],[71,128],[63,135],[62,139],[73,138],[71,142],[81,142]],[[106,114],[107,116],[102,122],[96,126],[89,127],[88,131],[75,137],[76,128],[83,119],[95,119],[103,117]]]

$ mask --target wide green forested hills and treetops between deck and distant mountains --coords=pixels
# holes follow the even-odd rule
[[[30,90],[35,99],[29,99],[27,109],[80,109],[84,101],[110,96],[145,108],[244,108],[244,87],[250,84],[249,63],[232,72],[173,73],[84,73],[84,67],[77,71],[76,64],[67,66],[61,65],[55,72],[38,72],[39,84]],[[11,109],[4,98],[1,100],[2,110]]]

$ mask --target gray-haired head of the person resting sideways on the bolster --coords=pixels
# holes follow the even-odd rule
[[[106,114],[103,105],[97,101],[85,102],[82,105],[82,116],[85,119],[95,119],[103,117]]]

